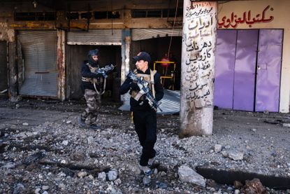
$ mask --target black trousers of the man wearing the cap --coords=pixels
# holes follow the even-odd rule
[[[157,117],[152,111],[133,111],[133,122],[142,146],[140,165],[147,166],[148,160],[156,155],[154,144],[157,140]]]

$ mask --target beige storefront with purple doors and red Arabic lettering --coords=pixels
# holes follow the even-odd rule
[[[215,106],[289,112],[289,1],[219,4]]]

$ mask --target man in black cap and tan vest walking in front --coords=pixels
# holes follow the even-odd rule
[[[148,67],[150,63],[150,55],[146,52],[140,52],[133,58],[136,60],[136,76],[139,78],[142,76],[148,83],[150,83],[150,89],[155,91],[152,92],[154,93],[153,95],[155,99],[157,99],[157,101],[161,100],[164,96],[164,89],[160,82],[160,74],[156,71],[152,71]],[[138,139],[143,148],[139,167],[146,175],[150,175],[152,173],[150,166],[152,165],[156,155],[156,151],[154,150],[154,144],[157,140],[156,111],[150,107],[144,95],[143,97],[140,97],[138,101],[134,99],[140,88],[137,83],[133,82],[131,78],[127,76],[119,89],[119,93],[120,95],[124,95],[129,90],[131,95],[131,111],[133,111],[133,123],[138,134]]]

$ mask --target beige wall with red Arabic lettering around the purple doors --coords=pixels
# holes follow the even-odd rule
[[[268,10],[264,11],[267,6],[270,6]],[[273,8],[273,11],[271,11]],[[224,20],[224,25],[222,25],[224,19],[231,19],[231,15],[237,15],[236,18],[243,18],[243,13],[251,11],[251,18],[256,17],[260,14],[261,19],[264,13],[264,21],[253,22],[250,20],[249,23],[245,22],[236,24],[235,21],[231,22],[228,29],[284,29],[284,41],[282,50],[282,75],[281,75],[281,86],[280,86],[280,112],[289,112],[289,96],[290,96],[290,57],[287,55],[290,51],[290,19],[289,15],[290,1],[289,0],[257,0],[257,1],[229,1],[224,4],[218,5],[218,18],[219,18],[219,29],[226,29],[224,26],[229,25],[229,20],[226,22]],[[272,21],[266,21],[273,16]],[[235,19],[235,18],[234,18]],[[236,27],[233,28],[236,24]],[[252,27],[249,27],[252,25]],[[222,27],[220,27],[222,26]],[[233,27],[232,27],[233,26]]]

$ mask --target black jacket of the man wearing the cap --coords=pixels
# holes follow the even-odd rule
[[[137,70],[138,74],[148,74],[150,75],[150,69],[148,68],[145,73],[143,71]],[[130,88],[131,79],[126,78],[124,83],[119,88],[119,94],[124,95],[126,92],[131,90]],[[164,89],[160,82],[160,74],[156,73],[154,75],[154,89],[155,89],[155,98],[157,101],[161,100],[164,96]],[[131,93],[131,91],[130,91]],[[140,105],[140,100],[136,101],[136,99],[133,99],[133,97],[130,98],[130,106],[131,111],[154,111],[150,105],[147,102],[147,99],[143,103],[143,105]]]

